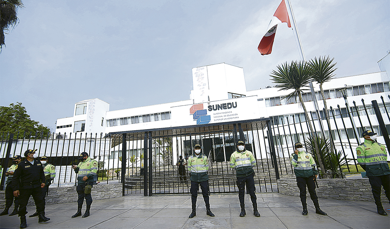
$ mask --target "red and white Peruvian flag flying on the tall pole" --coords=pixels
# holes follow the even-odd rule
[[[271,22],[269,23],[267,28],[268,32],[261,39],[259,47],[257,47],[261,55],[268,55],[271,53],[273,39],[275,38],[276,33],[276,27],[279,23],[282,22],[287,22],[287,26],[291,28],[289,14],[287,13],[287,7],[284,0],[282,0],[282,2],[280,3],[278,9],[276,9],[275,14],[273,14]]]

